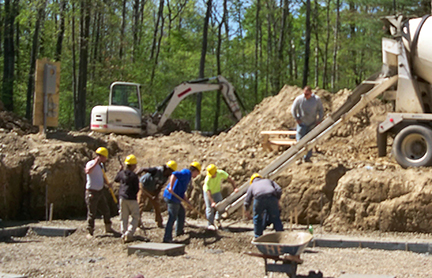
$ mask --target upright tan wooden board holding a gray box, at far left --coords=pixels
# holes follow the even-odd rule
[[[44,68],[45,64],[56,67],[56,89],[55,94],[48,98],[48,109],[50,111],[46,124],[47,126],[58,126],[59,100],[60,100],[60,62],[49,62],[47,58],[36,60],[35,91],[33,99],[33,125],[43,126],[44,124]]]

